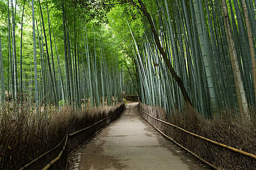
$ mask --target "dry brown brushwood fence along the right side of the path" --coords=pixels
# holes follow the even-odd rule
[[[189,106],[185,107],[182,113],[177,111],[176,114],[172,113],[168,117],[163,108],[142,103],[139,107],[153,117],[170,122],[189,132],[256,154],[256,108],[250,109],[252,122],[245,123],[239,116],[234,116],[235,111],[229,109],[220,110],[218,118],[206,119]],[[192,136],[153,119],[142,111],[140,113],[164,134],[219,169],[255,170],[256,159]]]

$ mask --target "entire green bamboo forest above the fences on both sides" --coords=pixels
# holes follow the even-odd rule
[[[0,14],[2,103],[7,93],[12,102],[100,106],[120,101],[125,91],[168,113],[188,103],[205,117],[234,108],[250,121],[248,109],[256,102],[255,0],[1,3],[7,6]],[[33,23],[23,22],[24,14]],[[83,20],[97,15],[98,21]],[[24,24],[33,31],[22,32]],[[34,62],[25,57],[32,51]]]

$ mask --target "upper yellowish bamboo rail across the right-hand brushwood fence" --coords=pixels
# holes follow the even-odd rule
[[[139,109],[140,109],[140,108],[139,108]],[[142,109],[140,109],[140,110],[142,110]],[[256,155],[254,155],[254,154],[252,154],[252,153],[247,153],[247,152],[241,151],[241,150],[239,150],[239,149],[233,148],[233,147],[231,147],[231,146],[228,146],[228,145],[225,145],[225,144],[216,142],[216,141],[214,141],[214,140],[208,139],[208,138],[206,138],[206,137],[199,136],[199,135],[194,134],[194,133],[192,133],[192,132],[189,132],[189,131],[187,131],[187,130],[185,130],[185,129],[182,129],[182,128],[180,128],[180,127],[174,125],[174,124],[168,123],[168,122],[163,121],[163,120],[161,120],[161,119],[157,119],[157,118],[151,116],[150,114],[144,112],[143,110],[142,110],[142,112],[145,113],[145,114],[147,114],[148,116],[150,116],[150,117],[153,118],[153,119],[156,119],[156,120],[161,121],[161,122],[163,122],[163,123],[165,123],[165,124],[168,124],[168,125],[171,125],[171,126],[173,126],[173,127],[176,127],[176,128],[178,128],[178,129],[180,129],[180,130],[182,130],[182,131],[184,131],[184,132],[186,132],[186,133],[188,133],[188,134],[190,134],[190,135],[197,136],[197,137],[199,137],[199,138],[201,138],[201,139],[203,139],[203,140],[206,140],[206,141],[208,141],[208,142],[214,143],[214,144],[216,144],[216,145],[218,145],[218,146],[227,148],[227,149],[229,149],[229,150],[231,150],[231,151],[234,151],[234,152],[236,152],[236,153],[241,153],[241,154],[243,154],[243,155],[246,155],[246,156],[249,156],[249,157],[252,157],[252,158],[256,159]],[[144,118],[144,117],[143,117],[143,118]],[[144,118],[144,119],[145,119],[145,118]],[[146,120],[147,120],[147,119],[146,119]]]

